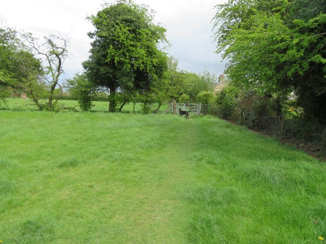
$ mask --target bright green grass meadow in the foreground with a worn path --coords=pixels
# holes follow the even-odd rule
[[[226,121],[0,111],[0,240],[324,243],[325,164]]]

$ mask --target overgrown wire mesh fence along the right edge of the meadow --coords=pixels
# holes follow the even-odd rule
[[[216,104],[207,105],[206,114],[218,116],[254,131],[277,137],[283,142],[318,152],[320,156],[326,155],[326,121],[312,122],[289,115],[262,116],[250,111],[239,111],[237,108],[230,110]]]

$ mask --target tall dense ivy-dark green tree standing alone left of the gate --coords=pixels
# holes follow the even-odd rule
[[[88,34],[93,42],[83,66],[91,82],[110,89],[110,112],[116,110],[117,91],[146,93],[167,68],[160,48],[166,29],[153,17],[147,6],[126,0],[88,17],[95,31]]]

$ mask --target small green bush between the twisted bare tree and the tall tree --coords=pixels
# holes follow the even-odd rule
[[[66,80],[66,87],[68,88],[71,97],[78,101],[82,111],[90,111],[92,101],[97,95],[97,88],[94,83],[88,81],[85,74],[75,74],[72,79]]]

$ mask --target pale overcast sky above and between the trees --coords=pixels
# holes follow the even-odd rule
[[[111,3],[112,1],[106,1]],[[225,0],[134,0],[156,11],[155,21],[167,28],[172,44],[168,52],[179,61],[179,69],[195,73],[205,69],[222,74],[225,62],[214,53],[211,19],[217,4]],[[103,0],[2,0],[0,22],[17,30],[31,32],[37,37],[58,34],[70,39],[74,54],[64,64],[65,78],[82,72],[81,63],[88,59],[91,39],[87,33],[92,24],[86,16],[102,9]]]

